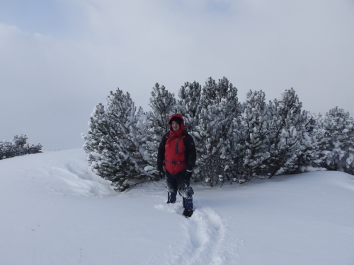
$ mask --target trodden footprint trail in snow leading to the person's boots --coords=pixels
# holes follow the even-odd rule
[[[154,206],[181,215],[181,202]],[[209,206],[197,205],[191,218],[181,216],[185,241],[173,245],[171,251],[155,257],[148,264],[238,264],[238,245],[228,236],[227,220]],[[162,263],[161,263],[162,262]]]

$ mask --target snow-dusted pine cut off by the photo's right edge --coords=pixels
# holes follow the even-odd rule
[[[322,152],[326,154],[323,166],[354,175],[354,120],[349,112],[335,107],[319,119],[326,133]]]

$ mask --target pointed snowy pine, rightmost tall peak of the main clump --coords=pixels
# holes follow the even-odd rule
[[[280,100],[274,100],[274,106],[277,112],[270,121],[270,158],[266,162],[270,177],[297,170],[300,139],[307,118],[307,114],[301,111],[302,102],[299,102],[293,88],[285,90]]]

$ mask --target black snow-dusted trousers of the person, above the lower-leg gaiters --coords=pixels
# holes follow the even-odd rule
[[[171,194],[178,192],[185,199],[191,199],[194,194],[192,187],[190,187],[190,177],[185,176],[185,170],[175,175],[166,170],[166,188],[167,192]]]

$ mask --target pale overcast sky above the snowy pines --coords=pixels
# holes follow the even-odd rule
[[[353,0],[0,0],[0,140],[81,147],[110,90],[149,110],[155,83],[226,76],[244,102],[294,88],[354,116]]]

